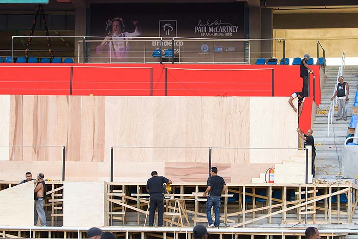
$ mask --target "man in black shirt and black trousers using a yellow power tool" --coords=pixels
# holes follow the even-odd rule
[[[158,208],[158,226],[163,227],[164,214],[164,189],[163,184],[173,182],[163,176],[158,176],[158,172],[152,171],[152,177],[147,181],[147,192],[150,194],[149,200],[149,227],[154,224],[155,209]]]

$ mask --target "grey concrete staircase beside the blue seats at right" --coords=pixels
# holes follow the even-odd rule
[[[326,82],[321,92],[321,104],[319,107],[328,114],[330,98],[332,97],[335,83],[337,82],[338,66],[326,67]],[[349,84],[349,103],[347,107],[347,121],[335,121],[337,118],[337,105],[334,112],[333,124],[330,124],[329,138],[327,138],[327,117],[317,114],[313,126],[313,136],[316,146],[316,179],[334,180],[340,175],[342,163],[342,145],[347,136],[347,128],[352,116],[355,90],[358,83],[358,66],[347,66],[343,70],[344,81]],[[327,110],[325,112],[325,110]],[[319,112],[320,113],[320,112]],[[342,165],[341,165],[342,166]]]

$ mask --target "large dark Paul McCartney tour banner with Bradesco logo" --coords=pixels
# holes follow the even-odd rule
[[[116,62],[141,58],[145,52],[151,54],[160,49],[159,37],[165,39],[163,53],[172,48],[172,38],[177,38],[174,41],[174,56],[181,61],[208,62],[214,53],[216,57],[220,57],[220,53],[227,56],[237,53],[242,57],[244,43],[230,39],[244,38],[244,8],[245,3],[242,2],[92,4],[90,33],[91,36],[103,37],[92,39],[91,61],[107,58]],[[144,41],[137,37],[158,38]],[[233,58],[237,58],[236,55]]]

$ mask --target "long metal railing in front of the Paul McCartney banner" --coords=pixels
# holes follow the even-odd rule
[[[24,57],[25,49],[21,45],[23,39],[29,36],[12,36],[11,57],[12,62],[16,57]],[[280,60],[285,58],[284,38],[265,39],[219,39],[219,38],[163,38],[163,37],[103,37],[103,36],[32,36],[41,39],[34,46],[38,49],[30,49],[33,57],[43,58],[49,49],[42,44],[42,38],[51,38],[57,41],[53,44],[54,57],[73,58],[77,63],[254,63],[255,59],[275,57]],[[252,42],[267,41],[283,42],[282,52],[252,51]],[[101,46],[102,45],[102,46]],[[116,47],[114,47],[116,45]],[[257,45],[257,44],[256,44]],[[101,47],[100,47],[101,46]],[[119,47],[121,46],[121,47]],[[123,47],[124,46],[124,47]],[[129,47],[130,46],[130,47]],[[171,54],[166,51],[171,49]],[[160,51],[160,56],[154,51]],[[116,55],[117,54],[117,55]],[[115,56],[114,56],[115,55]],[[267,57],[270,55],[270,57]],[[123,57],[124,56],[124,57]],[[30,56],[29,56],[30,57]],[[283,61],[283,64],[286,64]]]

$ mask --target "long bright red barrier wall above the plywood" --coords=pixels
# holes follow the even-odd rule
[[[72,67],[72,82],[71,82]],[[301,91],[300,66],[231,64],[0,64],[0,94],[16,95],[165,95],[168,96],[290,96]],[[175,69],[172,69],[175,68]],[[319,66],[315,102],[320,104]],[[198,70],[186,70],[198,69]],[[205,69],[199,70],[199,69]],[[244,70],[249,69],[249,70]],[[272,76],[274,73],[274,92]],[[313,80],[300,119],[303,131],[310,127]],[[278,105],[279,107],[279,105]]]

